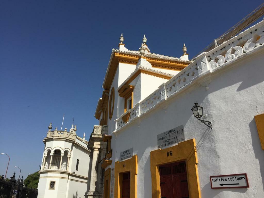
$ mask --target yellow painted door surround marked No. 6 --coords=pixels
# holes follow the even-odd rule
[[[172,152],[172,155],[167,155],[167,152]],[[178,145],[170,148],[158,149],[150,152],[152,198],[161,197],[159,166],[178,161],[185,161],[186,163],[189,197],[201,198],[195,139],[180,142]]]

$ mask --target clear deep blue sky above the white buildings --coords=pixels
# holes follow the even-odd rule
[[[112,48],[123,33],[138,50],[190,58],[262,0],[251,1],[1,1],[0,152],[10,155],[7,177],[39,169],[49,123],[87,139],[102,96]],[[0,174],[8,157],[0,155]]]

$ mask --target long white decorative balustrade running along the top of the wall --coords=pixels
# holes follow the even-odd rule
[[[263,43],[264,21],[261,21],[239,35],[234,36],[232,39],[225,41],[208,53],[198,55],[194,62],[169,81],[162,84],[156,91],[136,104],[131,110],[116,119],[115,131],[129,124],[129,122],[150,110],[157,103],[166,100],[167,97],[172,96],[173,93],[181,88],[184,88],[194,78],[199,78],[201,74],[205,74],[206,72],[214,72],[214,69],[221,65],[228,65],[231,60],[252,51],[254,48],[260,48],[263,46]],[[128,114],[130,114],[128,119],[124,119]]]

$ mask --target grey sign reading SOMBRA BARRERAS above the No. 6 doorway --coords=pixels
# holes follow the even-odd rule
[[[158,148],[166,147],[172,144],[176,144],[185,140],[183,125],[174,129],[165,131],[157,135]]]

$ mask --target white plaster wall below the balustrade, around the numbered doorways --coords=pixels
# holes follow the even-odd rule
[[[182,124],[185,139],[196,140],[202,198],[264,197],[264,153],[254,121],[255,115],[264,113],[263,57],[262,50],[213,73],[206,81],[211,80],[209,90],[206,83],[196,81],[140,117],[140,126],[135,120],[113,134],[111,168],[121,151],[133,147],[138,155],[138,198],[152,197],[150,151],[157,149],[157,135]],[[204,107],[213,130],[194,118],[195,102]],[[113,131],[113,126],[109,129]],[[211,189],[210,176],[236,173],[247,173],[249,188]]]

